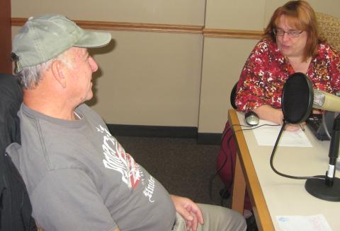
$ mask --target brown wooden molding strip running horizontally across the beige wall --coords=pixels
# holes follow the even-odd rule
[[[27,18],[11,18],[12,26],[22,26]],[[125,30],[142,32],[173,32],[186,34],[201,34],[204,37],[261,39],[263,31],[257,30],[227,30],[204,28],[203,25],[172,25],[156,23],[120,23],[93,20],[74,20],[81,28],[91,30]]]

